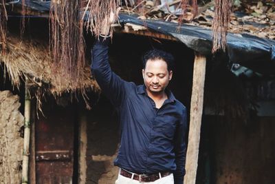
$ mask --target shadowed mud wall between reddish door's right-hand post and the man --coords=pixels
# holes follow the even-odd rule
[[[115,183],[118,167],[113,165],[119,144],[117,117],[111,104],[102,97],[100,104],[88,115],[87,184]]]

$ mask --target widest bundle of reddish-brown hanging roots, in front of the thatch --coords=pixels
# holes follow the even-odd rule
[[[80,7],[84,0],[55,0],[50,9],[50,51],[63,76],[78,81],[85,65],[85,43]],[[67,75],[69,74],[69,75]]]

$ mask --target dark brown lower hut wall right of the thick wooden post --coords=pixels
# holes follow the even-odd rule
[[[271,116],[248,124],[206,117],[197,183],[274,183],[274,121]]]

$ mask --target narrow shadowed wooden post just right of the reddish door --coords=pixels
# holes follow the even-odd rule
[[[87,115],[85,110],[78,106],[78,121],[79,121],[79,150],[78,150],[78,183],[87,183]]]

